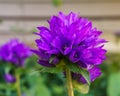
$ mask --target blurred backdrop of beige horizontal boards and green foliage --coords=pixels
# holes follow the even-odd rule
[[[103,31],[102,37],[109,42],[107,60],[100,66],[103,74],[91,84],[89,94],[75,96],[120,96],[120,0],[0,0],[0,45],[12,38],[35,46],[33,34],[37,26],[48,26],[50,16],[62,11],[80,13]],[[26,62],[26,69],[39,67],[36,57]],[[2,62],[0,62],[2,63]],[[4,64],[0,66],[0,74]],[[33,77],[33,78],[31,78]],[[26,72],[22,75],[23,96],[67,96],[62,74]],[[8,86],[8,87],[5,87]],[[0,96],[17,96],[11,84],[0,78]]]

